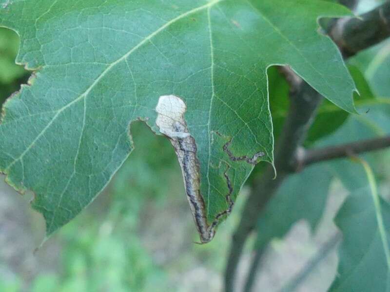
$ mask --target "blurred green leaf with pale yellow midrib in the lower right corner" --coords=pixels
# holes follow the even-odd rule
[[[369,164],[361,163],[370,187],[352,193],[335,219],[343,243],[330,291],[389,291],[390,205],[379,197]]]

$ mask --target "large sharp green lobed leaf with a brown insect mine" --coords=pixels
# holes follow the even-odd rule
[[[36,194],[33,206],[46,219],[48,235],[110,181],[133,149],[129,125],[141,119],[156,133],[170,135],[184,156],[195,222],[201,241],[209,241],[255,161],[273,163],[270,65],[289,64],[331,102],[354,111],[351,76],[330,38],[317,32],[320,16],[351,15],[340,5],[311,0],[0,3],[0,25],[21,38],[17,62],[37,70],[32,86],[23,86],[5,104],[0,170],[16,189]],[[172,94],[176,108],[168,110],[176,117],[169,113],[171,125],[161,128],[156,105],[160,96]],[[161,119],[171,102],[163,100]],[[156,178],[156,183],[163,182]]]

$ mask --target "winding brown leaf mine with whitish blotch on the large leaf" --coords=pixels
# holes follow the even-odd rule
[[[185,184],[187,200],[190,204],[195,225],[199,233],[200,243],[203,244],[213,239],[215,235],[215,228],[217,227],[220,219],[224,215],[230,214],[232,211],[234,205],[234,201],[231,198],[233,194],[233,186],[227,174],[230,169],[230,165],[228,165],[224,172],[224,177],[229,190],[226,195],[228,208],[218,213],[210,225],[207,224],[205,202],[200,193],[200,166],[196,156],[197,147],[195,139],[188,132],[187,123],[184,119],[186,109],[185,103],[176,95],[160,96],[156,106],[156,125],[159,127],[159,131],[168,137],[172,146],[175,148]],[[234,157],[228,149],[231,141],[232,140],[223,146],[223,150],[228,153],[232,161],[245,160],[250,164],[255,164],[257,158],[264,155],[264,153],[259,152],[252,158],[247,156]]]

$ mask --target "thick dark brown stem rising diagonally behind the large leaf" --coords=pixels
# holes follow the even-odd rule
[[[390,36],[389,29],[390,3],[387,2],[361,18],[342,18],[332,27],[330,36],[339,46],[345,57],[356,54]],[[278,172],[274,178],[272,167],[254,181],[252,192],[245,204],[243,216],[233,235],[225,271],[225,291],[234,291],[234,281],[238,261],[248,236],[253,231],[257,218],[264,206],[273,196],[283,180],[291,173],[296,162],[296,153],[306,138],[312,125],[318,105],[323,97],[314,91],[306,82],[289,76],[291,72],[284,69],[291,86],[291,104],[283,131],[275,151],[275,167]]]

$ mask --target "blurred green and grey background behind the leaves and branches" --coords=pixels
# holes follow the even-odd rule
[[[376,2],[361,1],[359,9],[367,10]],[[0,28],[1,103],[18,91],[20,84],[27,83],[30,75],[14,63],[18,46],[19,37]],[[389,41],[359,54],[349,63],[368,81],[367,86],[359,82],[362,89],[370,87],[361,91],[380,98],[390,96]],[[358,74],[353,75],[358,78]],[[278,85],[270,87],[276,135],[288,106],[288,88],[280,78],[271,70],[271,85]],[[324,124],[321,119],[329,120],[332,110],[330,104],[324,105],[316,121],[318,127]],[[375,116],[380,119],[379,113]],[[377,122],[384,125],[387,119],[383,116],[383,120]],[[352,140],[361,134],[353,136],[351,124],[354,122],[347,114],[339,113],[333,122],[333,130],[344,123],[344,131],[348,131]],[[0,177],[0,292],[220,291],[231,235],[250,183],[243,188],[234,212],[218,229],[215,239],[206,245],[194,244],[198,241],[197,233],[172,146],[141,122],[132,124],[131,131],[136,149],[109,186],[80,216],[37,251],[44,237],[43,219],[30,208],[31,196],[21,197]],[[337,135],[343,128],[338,131],[331,139],[341,141]],[[322,137],[312,131],[307,144],[311,145],[318,138]],[[383,190],[389,189],[390,181],[389,160],[385,157],[388,154],[375,164],[381,173]],[[253,176],[258,175],[262,167],[258,165]],[[334,234],[332,218],[348,191],[339,180],[332,181],[329,195],[327,192],[324,197],[325,211],[322,208],[317,211],[321,216],[315,230],[307,221],[299,220],[299,216],[285,219],[290,222],[285,224],[288,229],[283,232],[284,227],[276,230],[270,220],[269,230],[265,229],[266,236],[270,237],[266,243],[271,244],[256,287],[279,291],[299,274],[308,259]],[[388,192],[384,193],[384,197],[390,198]],[[285,200],[278,203],[288,206],[288,198],[276,200]],[[249,263],[255,239],[253,237],[247,246],[243,267]],[[301,283],[298,291],[326,291],[336,267],[336,251],[332,250],[319,268]],[[242,278],[245,268],[239,270]]]

